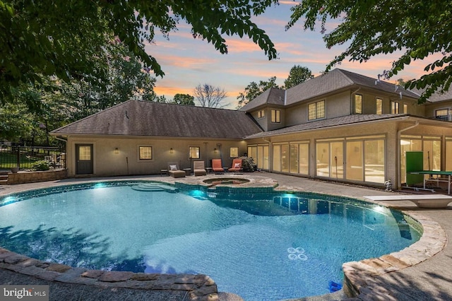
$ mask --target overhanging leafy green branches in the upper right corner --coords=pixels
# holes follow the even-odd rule
[[[391,69],[382,72],[387,79],[412,61],[441,55],[441,59],[425,66],[427,74],[405,84],[405,88],[425,88],[418,100],[422,103],[436,90],[448,90],[452,81],[452,6],[444,4],[422,0],[304,0],[292,8],[286,29],[302,19],[305,30],[314,30],[320,20],[326,47],[348,45],[326,66],[326,71],[347,57],[362,62],[378,54],[401,52]],[[340,19],[340,23],[326,33],[326,21],[332,19]]]

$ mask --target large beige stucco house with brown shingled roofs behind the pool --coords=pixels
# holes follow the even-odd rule
[[[67,141],[70,176],[157,174],[168,161],[245,153],[261,170],[395,187],[405,152],[452,170],[452,93],[417,105],[420,91],[334,69],[240,110],[129,101],[52,131]]]

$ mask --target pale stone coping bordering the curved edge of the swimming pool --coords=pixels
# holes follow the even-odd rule
[[[141,177],[140,179],[148,181],[167,182],[174,184],[174,182],[188,183],[198,182],[212,176],[203,177],[187,177],[173,179],[170,177]],[[225,175],[222,175],[225,177]],[[238,177],[237,175],[227,175],[227,177]],[[241,177],[249,177],[241,175]],[[250,183],[241,184],[241,187],[248,185],[249,187],[268,187],[271,186],[275,191],[296,191],[306,192],[306,190],[299,187],[278,185],[274,179],[268,177],[254,177]],[[85,179],[83,182],[100,182],[100,181],[127,181],[127,178],[121,179]],[[78,180],[77,182],[81,182]],[[52,186],[67,185],[71,183],[59,182],[49,183]],[[243,185],[243,186],[242,186]],[[223,186],[223,185],[222,185]],[[227,184],[225,184],[227,186]],[[245,187],[244,187],[245,188]],[[33,188],[37,189],[37,188]],[[22,191],[33,190],[22,189]],[[4,195],[0,191],[0,196]],[[337,195],[336,196],[340,196]],[[350,196],[347,196],[350,197]],[[368,203],[379,203],[387,206],[384,202],[369,201],[364,198],[355,197],[361,201]],[[415,211],[403,211],[404,214],[410,216],[413,220],[422,225],[423,233],[420,240],[411,244],[409,247],[398,252],[385,254],[378,258],[364,259],[361,261],[350,261],[343,264],[344,281],[343,291],[348,297],[358,297],[359,299],[381,299],[381,300],[396,300],[391,299],[391,291],[381,286],[377,281],[377,277],[383,276],[386,273],[400,271],[410,266],[420,264],[435,254],[441,252],[446,246],[447,237],[446,232],[441,228],[439,223],[422,216],[422,214]],[[191,275],[191,274],[147,274],[147,273],[132,273],[121,271],[97,271],[88,270],[86,268],[73,268],[62,264],[53,264],[46,261],[39,261],[28,256],[23,256],[7,249],[0,247],[0,268],[6,268],[10,271],[23,273],[28,276],[35,276],[49,281],[59,281],[63,283],[76,283],[87,285],[99,285],[102,288],[133,288],[133,289],[147,289],[147,290],[183,290],[186,291],[189,300],[219,300],[218,288],[215,281],[206,275]],[[195,277],[197,276],[197,277]]]

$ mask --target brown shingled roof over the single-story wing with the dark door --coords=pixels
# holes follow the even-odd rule
[[[129,100],[51,133],[234,139],[261,131],[254,119],[241,111]]]

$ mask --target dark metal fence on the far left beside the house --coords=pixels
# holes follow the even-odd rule
[[[31,169],[32,164],[45,160],[51,167],[65,168],[66,154],[64,150],[44,146],[0,146],[0,170],[19,167],[21,170]]]

